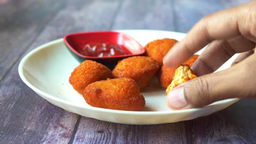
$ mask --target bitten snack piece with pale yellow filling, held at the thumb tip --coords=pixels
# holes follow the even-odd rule
[[[166,95],[168,92],[170,92],[174,87],[177,87],[178,85],[181,85],[182,83],[189,81],[191,79],[194,79],[196,75],[194,72],[190,69],[189,65],[181,65],[179,66],[176,71],[175,75],[173,77],[173,80],[171,84],[166,89]]]

